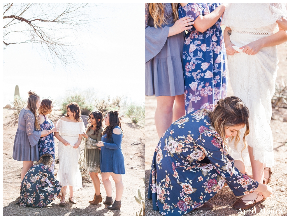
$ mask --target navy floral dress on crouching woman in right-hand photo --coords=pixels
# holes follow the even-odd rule
[[[200,113],[188,113],[172,123],[155,149],[148,198],[162,215],[180,216],[194,210],[225,183],[236,196],[258,187],[258,182],[233,166],[208,114]]]

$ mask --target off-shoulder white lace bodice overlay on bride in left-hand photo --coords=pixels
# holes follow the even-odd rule
[[[55,127],[60,135],[71,137],[77,137],[79,134],[85,132],[84,122],[67,122],[59,119]]]

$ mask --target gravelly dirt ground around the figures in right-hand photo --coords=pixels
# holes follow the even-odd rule
[[[285,43],[278,46],[279,70],[277,72],[276,83],[284,83],[287,85],[287,48]],[[229,83],[230,84],[230,83]],[[228,96],[232,96],[231,86],[228,87]],[[156,98],[154,96],[146,96],[145,98],[145,172],[146,172],[146,216],[161,216],[158,211],[152,209],[152,199],[147,199],[148,184],[152,157],[155,147],[159,141],[154,124],[154,113],[156,109]],[[187,216],[287,216],[287,109],[278,108],[272,111],[272,120],[270,126],[273,132],[274,145],[274,175],[270,184],[273,185],[273,195],[264,202],[256,205],[256,213],[244,214],[234,209],[233,203],[240,197],[236,197],[229,187],[223,188],[210,202],[215,204],[215,208],[210,211],[191,211]],[[252,172],[251,167],[246,167],[247,172]],[[262,210],[261,210],[261,209]],[[275,211],[274,213],[274,210]]]

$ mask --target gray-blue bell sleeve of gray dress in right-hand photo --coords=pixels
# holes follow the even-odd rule
[[[169,33],[169,27],[150,27],[149,4],[145,3],[145,63],[153,59],[163,48]]]

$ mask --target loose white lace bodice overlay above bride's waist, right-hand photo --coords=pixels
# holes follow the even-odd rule
[[[222,24],[236,31],[273,34],[282,15],[287,17],[284,3],[229,3]]]

